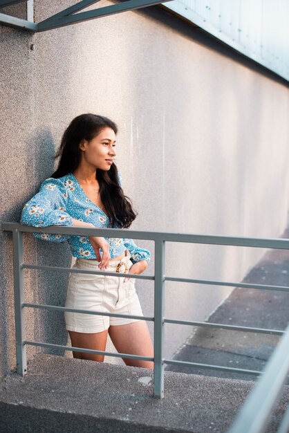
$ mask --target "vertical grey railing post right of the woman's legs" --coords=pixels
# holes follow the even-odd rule
[[[165,326],[165,241],[155,240],[155,287],[154,287],[154,366],[153,397],[164,396],[164,326]]]

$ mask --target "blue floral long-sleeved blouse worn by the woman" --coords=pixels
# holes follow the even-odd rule
[[[122,186],[122,176],[119,172],[118,180]],[[32,227],[47,227],[48,225],[69,225],[72,227],[73,218],[93,223],[98,228],[105,228],[109,225],[108,216],[88,199],[77,178],[69,173],[60,178],[48,178],[41,183],[39,192],[24,205],[20,223],[32,225]],[[67,241],[74,257],[97,258],[88,237],[50,233],[33,233],[33,235],[44,241]],[[132,239],[116,237],[104,237],[104,239],[109,243],[111,259],[118,257],[126,249],[131,254],[133,264],[143,259],[149,263],[151,259],[149,250],[138,247]],[[100,252],[102,255],[101,248]]]

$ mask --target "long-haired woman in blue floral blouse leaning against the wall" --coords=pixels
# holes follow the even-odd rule
[[[57,170],[41,183],[24,205],[21,224],[33,227],[129,228],[136,212],[122,190],[122,177],[113,162],[118,127],[104,116],[82,114],[62,136],[55,158]],[[68,241],[77,257],[74,268],[141,274],[151,254],[132,239],[33,233],[47,241]],[[100,312],[143,315],[133,277],[71,273],[65,306]],[[145,320],[64,312],[73,347],[105,351],[109,333],[115,349],[153,357]],[[104,355],[73,351],[74,358],[103,362]],[[153,368],[153,361],[122,358],[126,365]]]

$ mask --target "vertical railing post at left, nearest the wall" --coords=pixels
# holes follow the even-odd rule
[[[25,340],[24,276],[21,267],[23,263],[22,232],[13,230],[13,272],[14,272],[14,308],[15,308],[15,339],[17,373],[24,376],[27,372]]]

